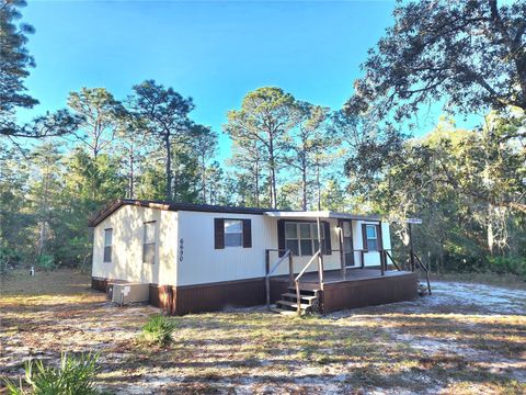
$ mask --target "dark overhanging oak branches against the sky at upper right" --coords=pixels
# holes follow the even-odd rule
[[[524,1],[401,1],[393,19],[368,53],[350,112],[387,120],[392,110],[400,121],[441,100],[465,114],[526,110]]]

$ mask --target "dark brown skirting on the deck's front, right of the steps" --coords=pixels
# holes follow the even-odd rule
[[[323,313],[414,300],[416,274],[381,276],[324,284]]]

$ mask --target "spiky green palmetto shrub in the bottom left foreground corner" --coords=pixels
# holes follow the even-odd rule
[[[22,386],[5,381],[8,394],[11,395],[93,395],[99,394],[94,387],[94,379],[99,372],[98,353],[68,357],[62,353],[60,366],[45,365],[43,361],[28,361],[25,364],[25,383],[30,392]]]

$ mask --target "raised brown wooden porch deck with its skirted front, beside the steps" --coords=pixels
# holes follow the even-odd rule
[[[347,269],[345,279],[341,270],[323,273],[322,312],[331,313],[386,303],[410,301],[416,297],[416,273],[380,269]],[[288,275],[271,279],[271,298],[278,300],[289,286]],[[318,273],[306,273],[300,280],[302,289],[320,289]]]

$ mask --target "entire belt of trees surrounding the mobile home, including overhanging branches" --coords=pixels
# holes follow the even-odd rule
[[[524,1],[398,4],[342,110],[279,88],[249,92],[222,125],[224,162],[220,131],[153,80],[118,99],[83,88],[67,109],[21,124],[16,111],[38,103],[24,86],[35,66],[24,5],[0,0],[0,268],[89,266],[89,217],[124,196],[375,212],[392,221],[398,252],[403,219],[416,216],[434,270],[526,276]],[[444,117],[412,137],[438,101],[449,114],[488,115],[469,131]]]

